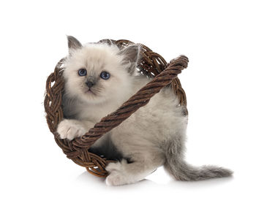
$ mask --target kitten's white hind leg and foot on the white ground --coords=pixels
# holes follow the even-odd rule
[[[121,162],[108,164],[106,170],[110,175],[106,179],[107,185],[136,183],[165,163],[165,158],[160,153],[152,153],[151,156],[148,152],[145,154],[132,156],[132,163],[123,159]]]

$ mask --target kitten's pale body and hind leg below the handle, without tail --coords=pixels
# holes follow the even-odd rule
[[[162,149],[178,136],[184,139],[186,131],[187,118],[181,116],[177,104],[169,90],[162,91],[112,130],[114,145],[138,164],[110,164],[106,168],[108,185],[135,183],[165,164]]]

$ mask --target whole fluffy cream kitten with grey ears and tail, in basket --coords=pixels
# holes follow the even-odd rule
[[[84,46],[68,37],[69,57],[64,64],[64,117],[57,132],[61,139],[74,139],[118,109],[150,79],[138,72],[140,47],[89,43]],[[184,161],[187,116],[170,88],[97,140],[90,150],[118,160],[106,170],[108,185],[143,180],[159,166],[176,180],[227,177],[228,169],[190,166]]]

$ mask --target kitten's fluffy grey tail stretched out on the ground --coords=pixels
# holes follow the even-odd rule
[[[229,169],[218,166],[190,166],[183,158],[174,156],[173,154],[170,155],[170,153],[166,154],[166,160],[165,169],[176,180],[207,180],[214,177],[228,177],[233,174]]]

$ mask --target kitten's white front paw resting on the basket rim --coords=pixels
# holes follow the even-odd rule
[[[72,140],[75,137],[80,137],[86,134],[86,129],[81,126],[77,120],[62,120],[59,123],[57,132],[59,133],[61,139]]]

